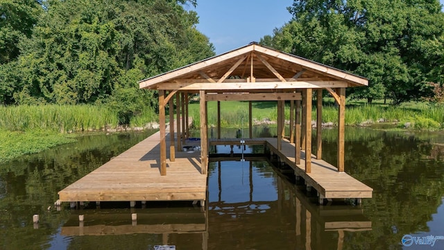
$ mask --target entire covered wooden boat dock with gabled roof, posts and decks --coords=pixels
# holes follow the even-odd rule
[[[131,201],[132,205],[135,201],[200,201],[204,204],[208,147],[264,144],[274,158],[291,167],[297,178],[305,180],[307,188],[318,191],[320,203],[335,198],[360,202],[361,198],[372,197],[373,190],[345,173],[345,89],[366,85],[368,80],[364,77],[256,43],[146,78],[139,81],[139,88],[157,91],[160,131],[60,191],[60,201]],[[337,104],[336,167],[322,160],[322,129],[319,128],[322,127],[324,90]],[[311,153],[314,91],[318,128],[313,142],[315,156]],[[189,102],[196,97],[200,140],[187,144]],[[216,138],[221,138],[221,101],[248,101],[248,136],[244,136],[248,139],[209,138],[207,103],[211,101],[217,102],[217,111],[211,111],[216,115]],[[253,138],[253,102],[257,101],[275,102],[277,138]],[[289,131],[285,131],[286,124]],[[286,137],[289,140],[284,139]],[[196,146],[198,150],[184,151],[184,146],[189,149]]]

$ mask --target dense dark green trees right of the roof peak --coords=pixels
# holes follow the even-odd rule
[[[262,44],[369,78],[352,97],[400,103],[444,82],[438,0],[295,0],[289,11],[293,19]]]

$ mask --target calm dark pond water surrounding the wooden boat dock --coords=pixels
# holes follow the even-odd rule
[[[323,133],[323,156],[335,163],[336,131]],[[369,128],[346,128],[345,133],[345,171],[374,189],[373,199],[364,199],[362,206],[352,201],[317,206],[316,193],[307,192],[303,183],[257,160],[210,163],[205,212],[171,202],[137,203],[133,209],[128,203],[102,203],[100,209],[86,203],[57,211],[53,202],[59,190],[149,132],[85,135],[77,143],[0,165],[0,249],[154,249],[162,244],[176,249],[444,249],[444,240],[434,247],[401,243],[407,234],[444,235],[444,133]],[[225,132],[226,137],[235,134]],[[131,213],[137,213],[135,225]],[[40,215],[38,228],[34,214]],[[80,214],[85,215],[82,228]]]

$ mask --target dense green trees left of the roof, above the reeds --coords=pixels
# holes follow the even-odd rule
[[[105,103],[128,123],[137,81],[214,55],[191,1],[1,0],[0,102]]]

